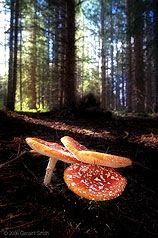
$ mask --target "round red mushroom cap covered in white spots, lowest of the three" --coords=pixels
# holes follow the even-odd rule
[[[126,178],[113,168],[82,163],[67,167],[64,180],[75,194],[95,201],[117,198],[127,184]]]

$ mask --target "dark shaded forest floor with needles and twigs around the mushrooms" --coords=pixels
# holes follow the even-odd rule
[[[58,162],[43,185],[48,158],[30,152],[26,137],[60,142],[69,135],[89,149],[129,157],[117,169],[123,194],[95,202],[72,193]],[[71,112],[0,111],[0,237],[158,237],[158,118],[106,117]]]

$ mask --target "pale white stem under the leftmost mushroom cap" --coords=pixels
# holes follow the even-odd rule
[[[55,169],[55,165],[57,163],[57,159],[55,158],[49,158],[49,162],[48,162],[48,165],[47,165],[47,168],[46,168],[46,174],[45,174],[45,177],[44,177],[44,185],[49,185],[50,182],[51,182],[51,178],[52,178],[52,175],[53,175],[53,171]]]

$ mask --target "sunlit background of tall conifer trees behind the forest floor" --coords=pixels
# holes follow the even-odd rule
[[[4,0],[0,105],[158,112],[156,0]]]

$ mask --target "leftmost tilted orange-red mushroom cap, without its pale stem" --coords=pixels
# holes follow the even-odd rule
[[[78,160],[66,148],[58,143],[47,142],[38,138],[26,138],[27,144],[39,154],[62,160],[66,163],[76,163]]]

